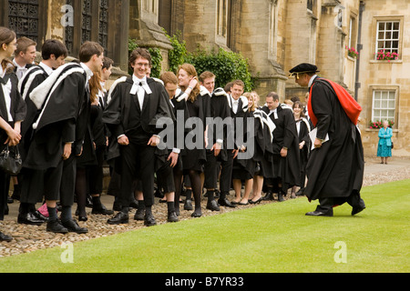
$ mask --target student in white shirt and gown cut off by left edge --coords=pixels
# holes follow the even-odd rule
[[[5,146],[17,146],[21,140],[21,121],[26,116],[26,104],[17,89],[17,76],[8,58],[15,52],[15,32],[0,27],[0,151]],[[9,176],[0,170],[0,220],[4,219]],[[0,232],[0,241],[13,238]]]

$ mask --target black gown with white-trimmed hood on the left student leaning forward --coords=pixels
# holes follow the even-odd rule
[[[72,73],[67,75],[69,72]],[[57,81],[54,91],[48,94],[44,92],[44,104],[36,120],[35,134],[24,162],[27,168],[45,170],[56,167],[62,161],[64,144],[67,142],[73,143],[72,156],[81,153],[89,118],[87,75],[77,64],[67,64],[58,73],[60,82]],[[38,92],[46,89],[49,78],[51,76],[36,87]],[[30,98],[34,100],[33,92]]]

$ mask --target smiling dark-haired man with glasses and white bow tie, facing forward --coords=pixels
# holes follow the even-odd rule
[[[159,145],[157,128],[160,118],[175,117],[171,112],[169,96],[164,85],[146,76],[151,56],[146,49],[137,48],[131,53],[129,65],[134,74],[130,78],[121,78],[111,86],[108,93],[108,105],[103,121],[112,135],[117,136],[110,146],[108,156],[119,156],[120,166],[116,169],[121,175],[119,204],[121,211],[110,219],[108,224],[128,223],[128,207],[132,196],[132,183],[139,178],[145,204],[145,226],[157,223],[152,215],[154,203],[154,173],[156,151]],[[116,153],[113,153],[116,152]]]

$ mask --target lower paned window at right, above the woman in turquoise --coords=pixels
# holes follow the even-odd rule
[[[393,120],[395,121],[395,90],[373,91],[372,121]]]

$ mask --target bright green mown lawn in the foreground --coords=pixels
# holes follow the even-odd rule
[[[302,197],[76,243],[74,263],[62,263],[59,247],[0,258],[0,273],[409,272],[410,180],[362,197],[356,216],[347,204],[333,217],[304,216],[317,202]]]

